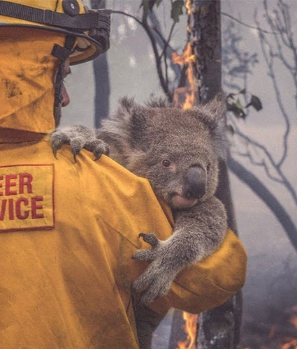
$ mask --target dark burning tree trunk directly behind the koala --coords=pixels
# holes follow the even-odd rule
[[[196,100],[205,103],[221,92],[221,23],[219,0],[190,0],[189,42],[196,59]],[[226,163],[221,163],[217,197],[228,212],[229,227],[236,231],[236,221],[229,188]],[[241,295],[199,316],[197,348],[235,349],[239,347]]]

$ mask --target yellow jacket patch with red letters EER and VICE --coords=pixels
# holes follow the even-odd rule
[[[0,167],[0,232],[55,227],[54,165]]]

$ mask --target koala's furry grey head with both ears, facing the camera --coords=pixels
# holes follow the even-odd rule
[[[124,98],[102,132],[116,161],[182,209],[215,193],[218,160],[227,148],[224,115],[219,98],[190,110],[142,107]]]

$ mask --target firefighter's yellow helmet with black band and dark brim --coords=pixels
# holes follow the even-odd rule
[[[88,10],[82,0],[0,0],[1,27],[45,29],[65,34],[53,54],[70,64],[94,59],[109,48],[109,10]]]

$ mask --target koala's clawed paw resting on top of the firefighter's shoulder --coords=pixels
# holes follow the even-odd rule
[[[109,155],[108,144],[96,138],[94,131],[89,130],[89,128],[85,126],[57,129],[50,135],[50,140],[52,142],[52,152],[55,158],[57,158],[57,151],[63,144],[70,145],[74,162],[76,162],[76,156],[82,148],[92,151],[95,156],[95,161],[98,160],[102,154]]]

